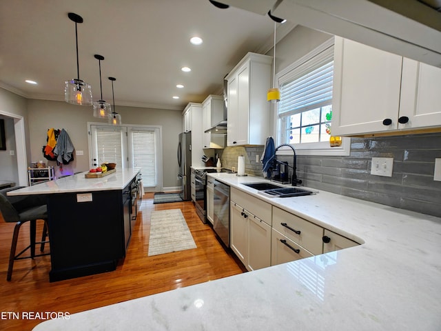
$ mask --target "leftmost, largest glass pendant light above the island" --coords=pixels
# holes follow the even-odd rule
[[[71,21],[75,22],[75,41],[76,41],[76,79],[65,81],[64,100],[79,106],[92,106],[92,88],[90,84],[80,79],[79,61],[78,61],[78,30],[77,24],[83,23],[83,17],[73,12],[68,13]]]

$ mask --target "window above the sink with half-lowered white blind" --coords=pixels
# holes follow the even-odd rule
[[[331,148],[334,39],[278,74],[277,141],[298,154],[349,155],[350,139]]]

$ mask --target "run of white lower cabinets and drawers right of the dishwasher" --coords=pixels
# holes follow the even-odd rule
[[[249,271],[359,245],[233,187],[229,216],[230,247]]]

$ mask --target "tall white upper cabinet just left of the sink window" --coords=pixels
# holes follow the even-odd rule
[[[272,57],[249,52],[225,79],[227,146],[264,145],[269,135],[267,90]]]

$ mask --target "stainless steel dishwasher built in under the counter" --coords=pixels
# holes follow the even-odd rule
[[[229,185],[214,180],[213,230],[229,247]]]

